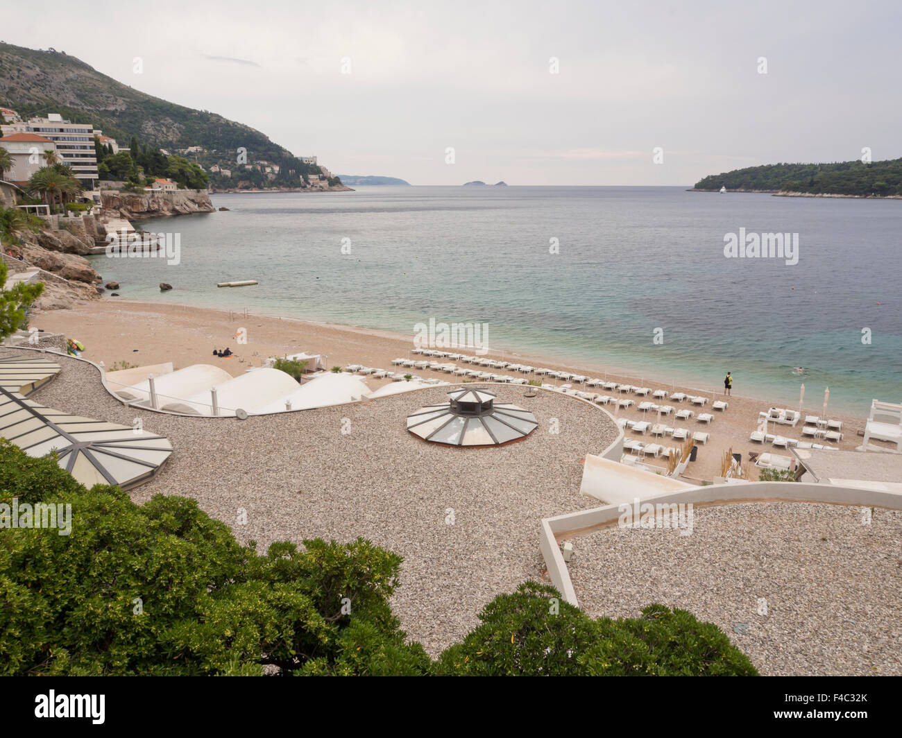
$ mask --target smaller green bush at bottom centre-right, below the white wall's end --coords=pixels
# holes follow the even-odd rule
[[[469,676],[743,675],[758,672],[712,623],[659,604],[639,618],[592,620],[550,586],[501,595],[442,653],[436,673]]]

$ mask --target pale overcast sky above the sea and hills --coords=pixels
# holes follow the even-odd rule
[[[898,0],[31,0],[3,18],[0,40],[66,51],[337,174],[691,186],[864,147],[902,156]]]

